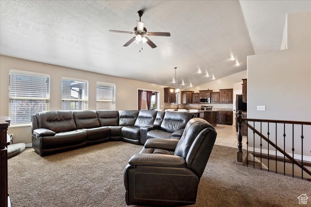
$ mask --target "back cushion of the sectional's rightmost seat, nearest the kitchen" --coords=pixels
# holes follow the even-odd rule
[[[193,113],[166,111],[160,129],[167,132],[175,132],[186,127]]]

